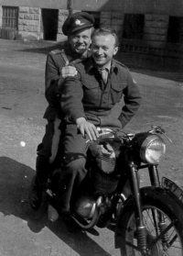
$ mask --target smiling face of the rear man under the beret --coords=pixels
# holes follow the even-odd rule
[[[92,28],[87,28],[71,34],[69,41],[71,49],[83,54],[91,45]]]

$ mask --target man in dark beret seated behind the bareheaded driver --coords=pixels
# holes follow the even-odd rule
[[[38,210],[42,191],[48,181],[48,174],[53,172],[59,149],[61,135],[60,95],[65,78],[75,76],[76,69],[71,66],[73,61],[91,55],[92,28],[94,18],[88,13],[75,13],[68,17],[62,27],[63,34],[68,36],[67,43],[60,50],[48,53],[45,70],[45,95],[48,101],[44,118],[47,119],[46,132],[38,145],[36,175],[30,185],[28,202],[32,210]],[[53,164],[54,163],[54,164]]]

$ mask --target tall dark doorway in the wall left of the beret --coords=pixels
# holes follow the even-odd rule
[[[42,9],[42,31],[44,40],[57,40],[58,17],[59,10]]]

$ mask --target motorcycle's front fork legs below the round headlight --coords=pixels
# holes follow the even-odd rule
[[[139,177],[138,177],[138,170],[136,169],[136,165],[134,162],[131,162],[130,165],[130,175],[131,175],[131,189],[133,192],[134,197],[134,206],[135,206],[135,219],[136,219],[136,238],[138,248],[142,253],[146,253],[147,244],[146,244],[146,228],[143,219],[143,210],[141,204],[141,195],[140,195],[140,184],[139,184]],[[149,177],[151,181],[151,185],[154,187],[160,187],[160,180],[158,175],[158,170],[156,165],[145,166],[148,167]],[[152,209],[152,215],[155,215],[155,210]],[[156,236],[158,232],[163,231],[167,228],[165,218],[163,214],[158,212],[158,224],[156,223],[155,218],[155,227],[156,227]],[[166,235],[162,237],[162,242],[166,243]]]

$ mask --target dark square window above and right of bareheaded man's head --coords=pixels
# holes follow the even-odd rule
[[[143,39],[144,15],[125,14],[124,15],[124,39]]]

